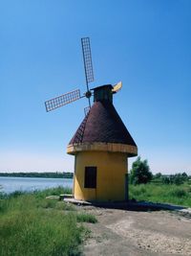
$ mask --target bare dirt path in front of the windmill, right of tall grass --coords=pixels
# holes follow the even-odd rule
[[[88,224],[85,255],[191,256],[191,219],[167,211],[138,212],[84,207],[98,222]],[[83,210],[84,210],[83,209]]]

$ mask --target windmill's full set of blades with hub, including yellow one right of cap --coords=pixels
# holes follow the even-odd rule
[[[91,97],[93,96],[93,93],[92,93],[93,89],[90,89],[89,83],[94,81],[90,38],[89,37],[81,38],[81,46],[82,46],[82,53],[83,53],[85,78],[86,78],[86,92],[83,93],[83,95],[81,96],[80,90],[76,89],[46,101],[45,106],[46,106],[47,112],[52,111],[53,109],[58,108],[62,105],[71,104],[74,101],[80,100],[85,97],[88,99],[89,106],[84,108],[84,113],[85,115],[87,115],[87,113],[89,112],[91,108]],[[119,81],[117,84],[113,86],[113,89],[112,89],[113,93],[116,93],[121,87],[122,87],[122,82]]]

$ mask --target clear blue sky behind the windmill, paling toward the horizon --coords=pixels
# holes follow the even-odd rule
[[[191,175],[191,1],[11,0],[0,3],[0,172],[74,171],[66,147],[86,99],[80,38],[95,82],[123,82],[114,105],[153,173]],[[132,160],[130,160],[130,166]]]

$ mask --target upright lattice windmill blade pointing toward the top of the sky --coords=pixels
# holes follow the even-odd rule
[[[81,45],[82,45],[84,68],[85,68],[85,75],[86,75],[86,85],[87,85],[87,90],[89,91],[88,83],[94,81],[90,38],[89,37],[81,38]]]

